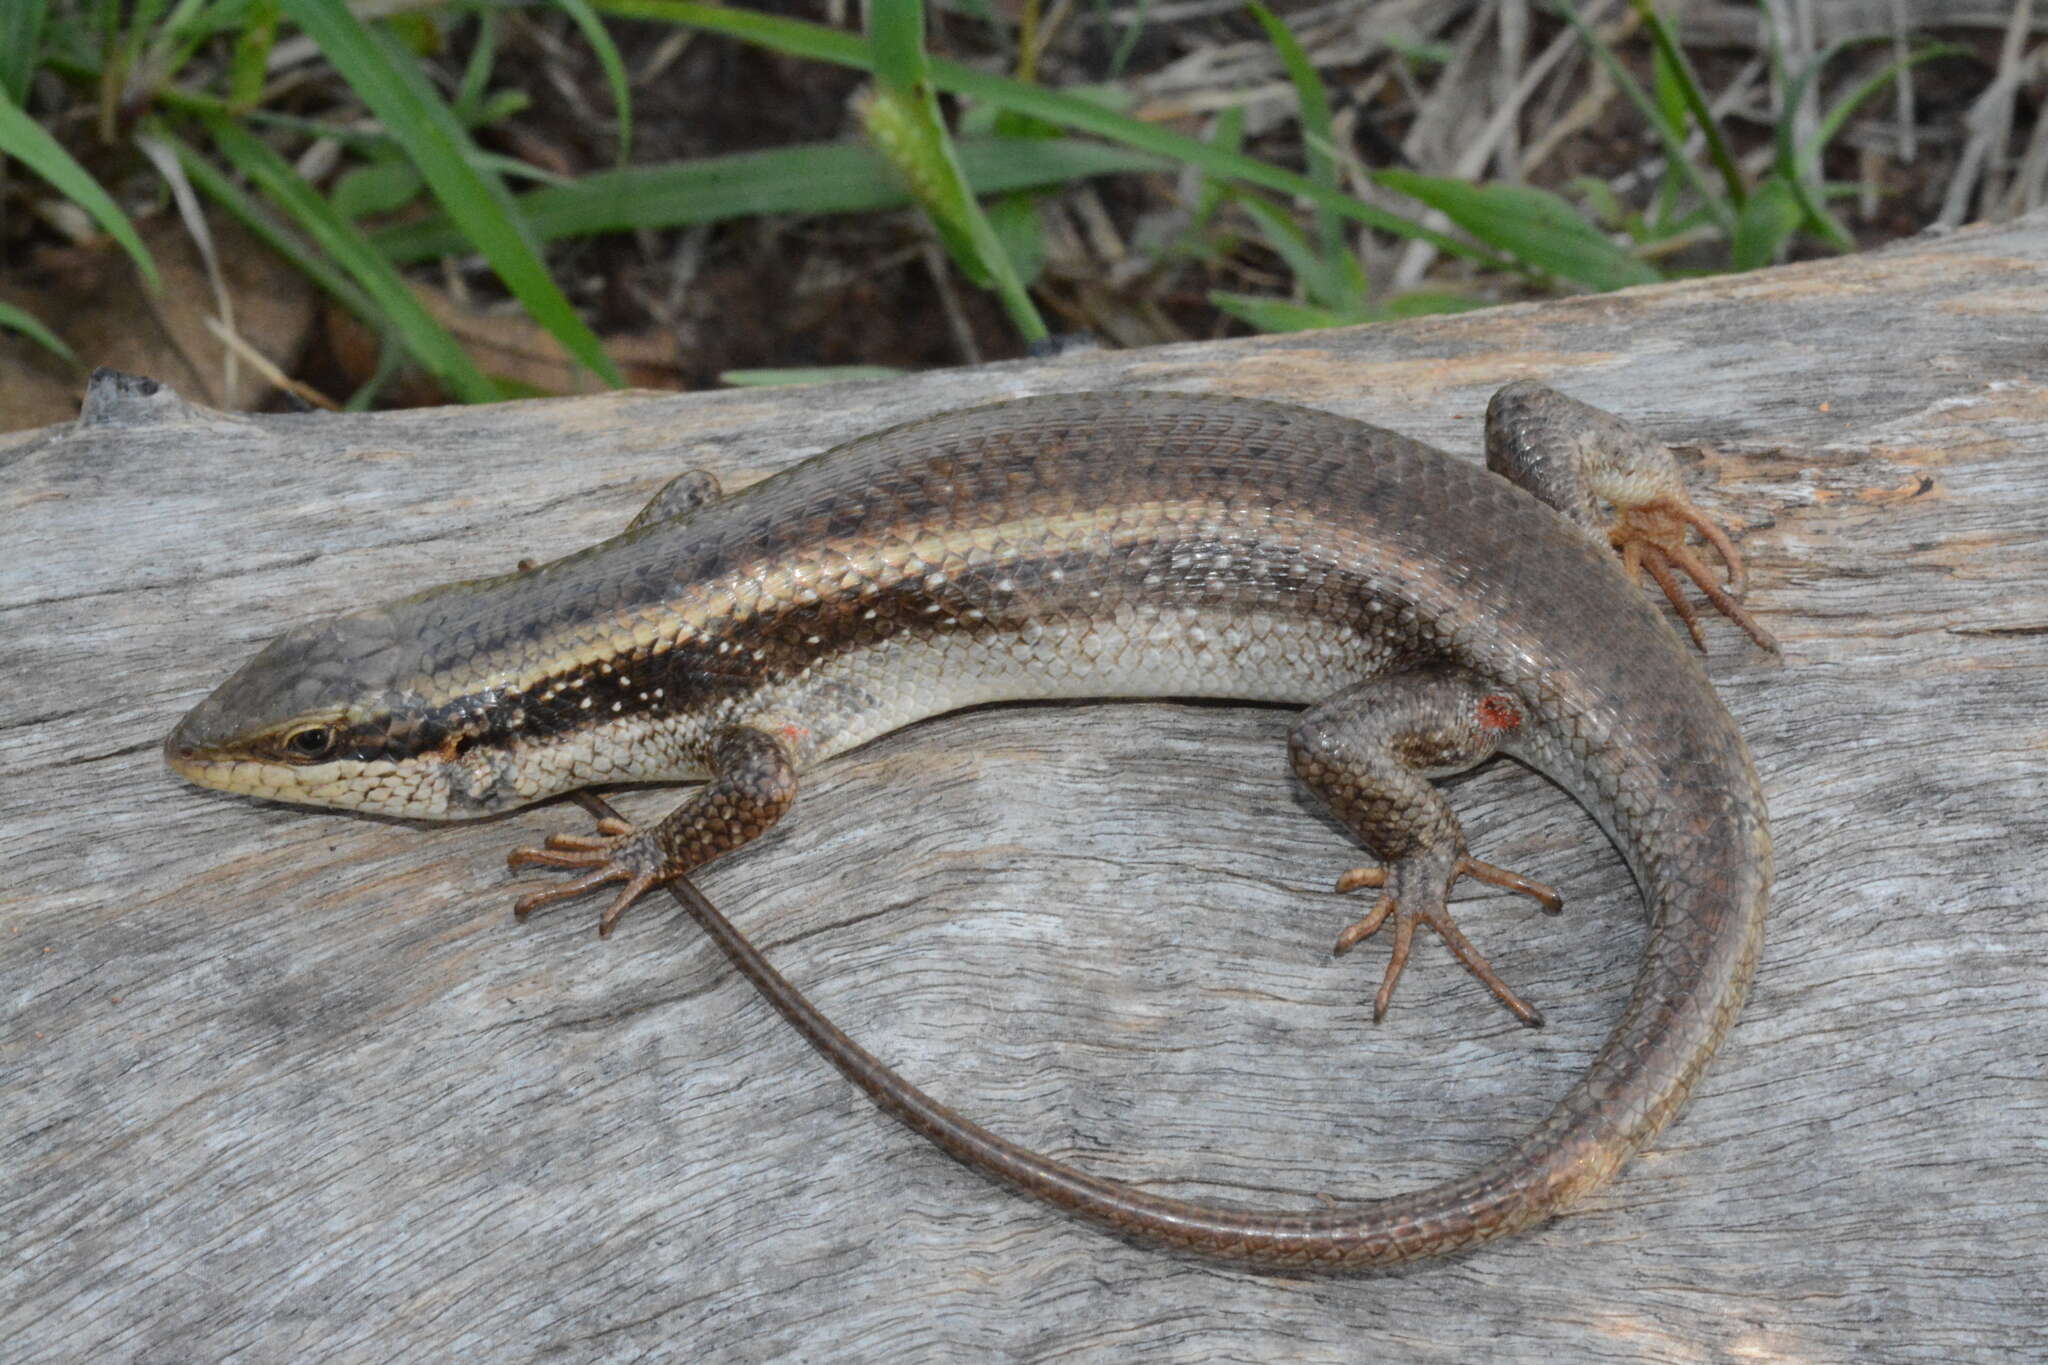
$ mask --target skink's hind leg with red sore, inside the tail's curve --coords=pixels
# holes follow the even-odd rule
[[[1479,862],[1432,778],[1464,772],[1491,757],[1520,729],[1522,708],[1464,673],[1374,677],[1311,706],[1288,737],[1294,772],[1331,814],[1378,855],[1378,868],[1352,868],[1337,890],[1380,888],[1372,913],[1337,937],[1339,954],[1384,923],[1395,927],[1386,976],[1372,1019],[1386,1017],[1395,982],[1407,966],[1415,925],[1436,929],[1473,976],[1530,1027],[1542,1015],[1507,988],[1450,917],[1450,888],[1468,876],[1507,886],[1552,915],[1563,905],[1542,882]]]

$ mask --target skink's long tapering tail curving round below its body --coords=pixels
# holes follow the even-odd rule
[[[1755,792],[1753,772],[1745,776]],[[578,798],[592,814],[612,817],[596,796]],[[676,880],[670,892],[813,1048],[975,1171],[1137,1242],[1251,1267],[1350,1271],[1462,1250],[1563,1212],[1604,1185],[1686,1101],[1741,1009],[1772,878],[1761,798],[1706,810],[1712,804],[1692,812],[1710,827],[1694,823],[1688,849],[1661,847],[1651,857],[1636,849],[1630,860],[1653,907],[1645,966],[1614,1033],[1550,1117],[1456,1181],[1305,1214],[1151,1195],[991,1134],[840,1031],[694,886]]]

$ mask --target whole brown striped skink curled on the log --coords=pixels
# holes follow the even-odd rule
[[[1671,1119],[1741,1007],[1772,880],[1743,739],[1632,581],[1651,571],[1698,639],[1677,569],[1772,645],[1735,602],[1733,546],[1663,446],[1548,389],[1493,399],[1487,456],[1493,473],[1331,413],[1184,393],[944,413],[731,495],[684,475],[578,555],[299,626],[164,751],[203,786],[430,821],[702,780],[653,827],[600,821],[514,851],[582,872],[526,894],[522,915],[621,882],[610,931],[647,888],[762,835],[807,767],[924,716],[1051,698],[1305,704],[1294,772],[1374,855],[1337,884],[1378,890],[1337,952],[1382,925],[1395,937],[1374,1017],[1425,923],[1540,1023],[1446,900],[1466,876],[1546,909],[1556,894],[1473,857],[1430,782],[1509,753],[1595,814],[1651,935],[1587,1074],[1462,1179],[1305,1214],[1167,1199],[989,1138],[872,1058],[836,1058],[885,1107],[915,1109],[895,1085],[936,1109],[922,1126],[954,1154],[1135,1240],[1317,1269],[1450,1252],[1561,1212]],[[1733,596],[1688,526],[1726,559]],[[946,1121],[950,1142],[932,1132]]]

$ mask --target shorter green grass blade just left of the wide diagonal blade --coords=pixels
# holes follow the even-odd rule
[[[406,289],[406,280],[399,278],[391,262],[377,254],[377,248],[356,231],[354,223],[338,215],[313,186],[301,180],[285,158],[227,119],[209,119],[207,131],[221,156],[348,272],[362,295],[371,299],[379,327],[395,329],[406,350],[465,403],[498,399],[498,389],[477,372],[461,344]]]

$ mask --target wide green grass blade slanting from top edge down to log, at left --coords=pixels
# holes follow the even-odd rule
[[[434,199],[504,280],[506,289],[563,350],[608,385],[621,387],[616,366],[596,334],[561,295],[518,221],[518,207],[498,176],[471,162],[471,141],[455,115],[426,84],[414,61],[389,35],[367,29],[346,4],[283,0],[285,14],[319,45],[350,90],[369,104],[414,166]]]

